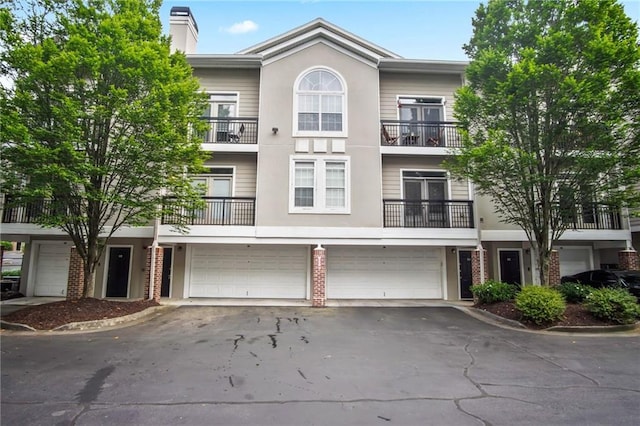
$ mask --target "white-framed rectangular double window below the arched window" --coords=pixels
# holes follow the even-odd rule
[[[350,212],[348,157],[291,156],[289,212]]]

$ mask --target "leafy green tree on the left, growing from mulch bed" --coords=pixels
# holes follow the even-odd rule
[[[203,97],[170,54],[160,0],[24,0],[0,9],[2,192],[72,239],[84,296],[108,240],[189,205]]]

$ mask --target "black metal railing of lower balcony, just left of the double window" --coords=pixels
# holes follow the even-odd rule
[[[202,197],[203,208],[175,207],[174,213],[162,216],[163,224],[176,224],[181,217],[188,217],[188,225],[255,225],[255,198],[249,197]],[[165,206],[171,206],[167,198]]]

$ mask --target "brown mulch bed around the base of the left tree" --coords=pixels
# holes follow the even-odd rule
[[[158,305],[153,300],[119,302],[89,297],[28,306],[5,315],[2,319],[25,324],[36,330],[51,330],[72,322],[122,317]]]

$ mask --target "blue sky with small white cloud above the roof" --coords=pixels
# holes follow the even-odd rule
[[[165,33],[173,6],[191,8],[199,28],[197,53],[236,53],[315,18],[410,59],[467,60],[471,18],[480,1],[414,0],[166,0],[160,14]],[[622,2],[640,22],[640,0]]]

